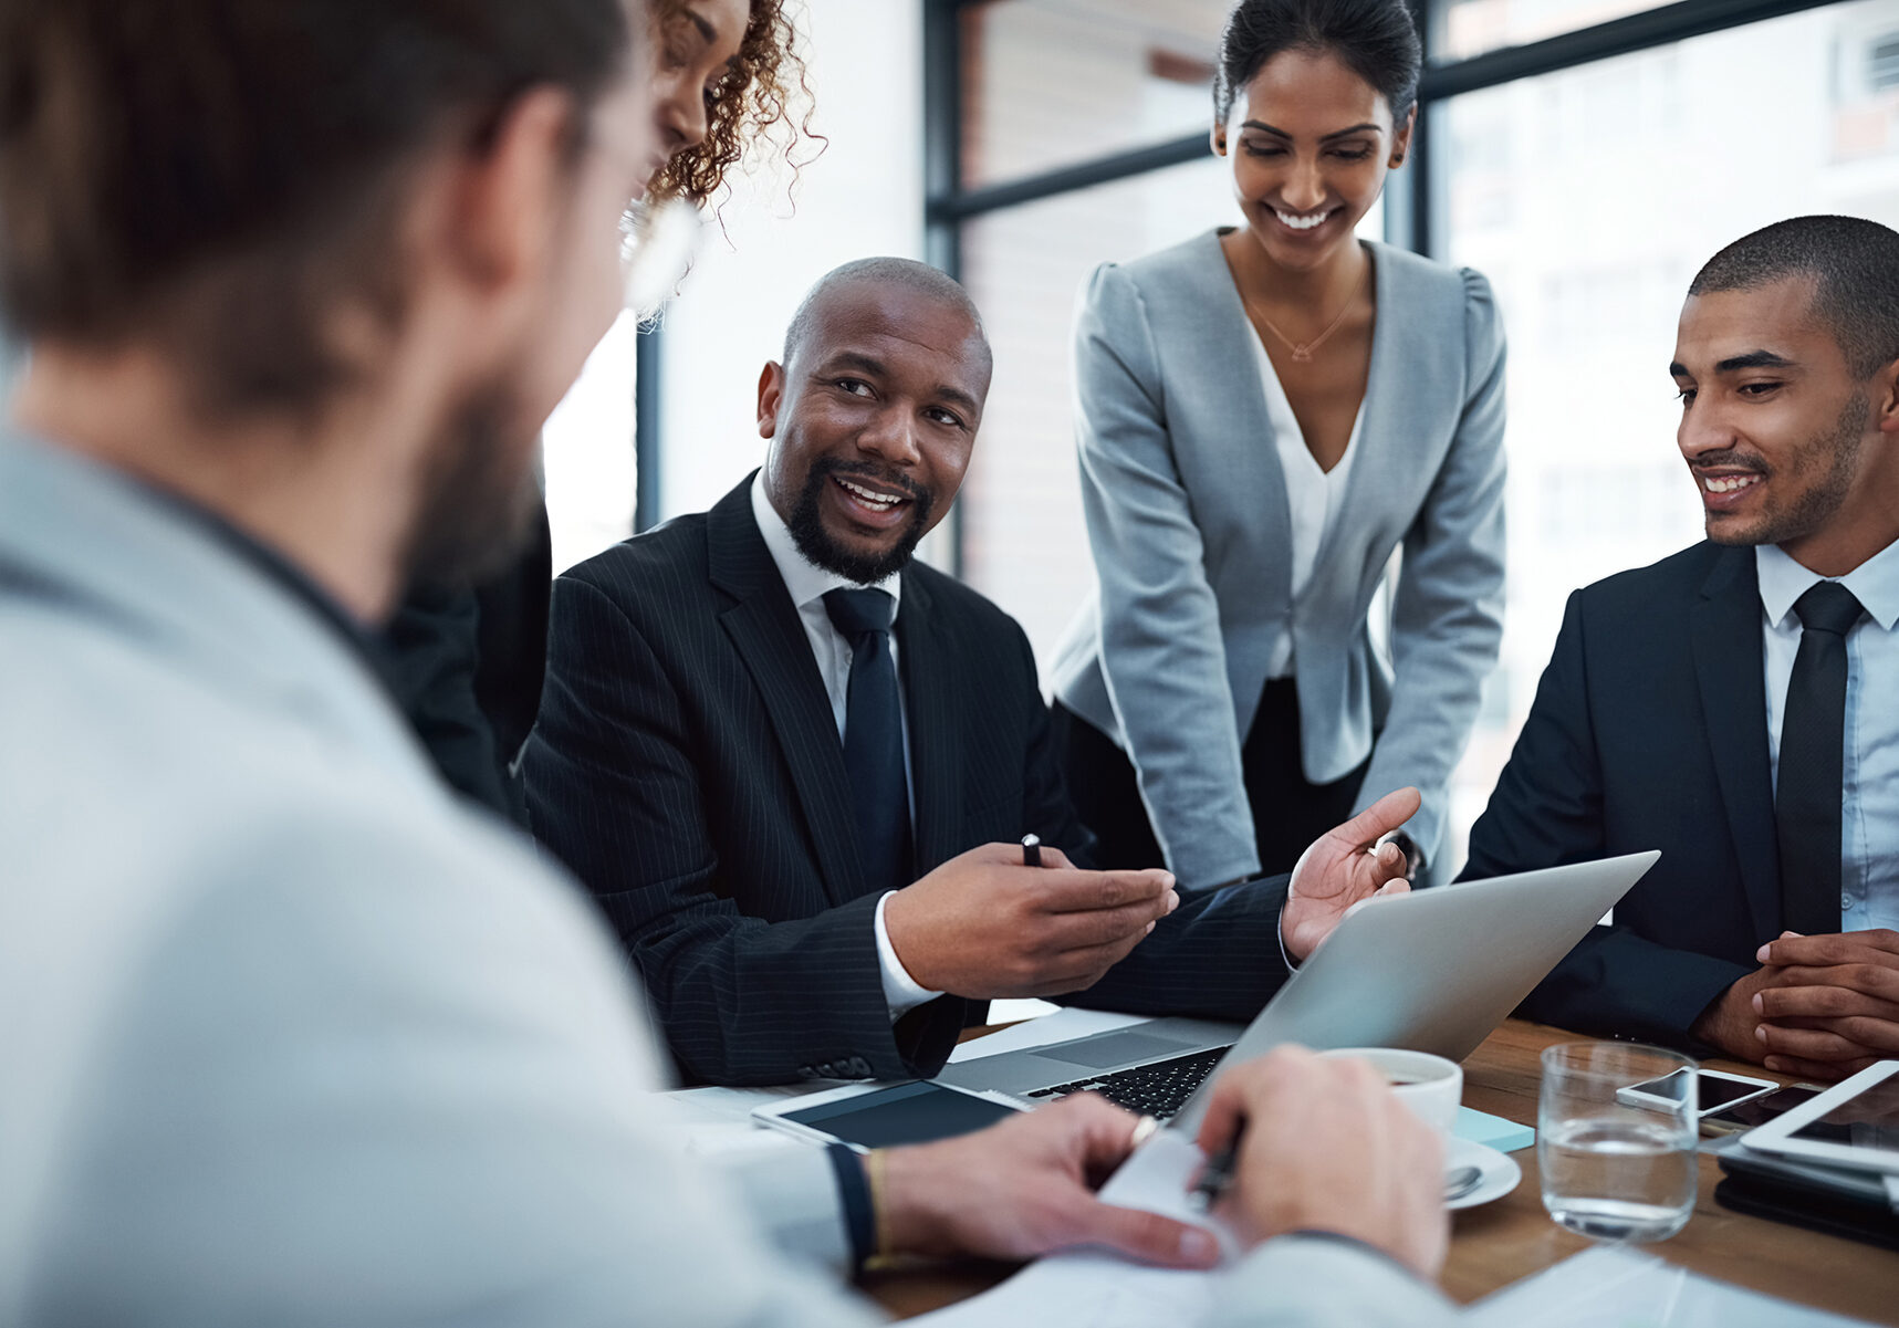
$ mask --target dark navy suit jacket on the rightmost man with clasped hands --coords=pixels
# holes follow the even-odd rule
[[[1576,591],[1466,878],[1662,859],[1531,994],[1586,1034],[1692,1045],[1781,931],[1755,551],[1698,543]]]

